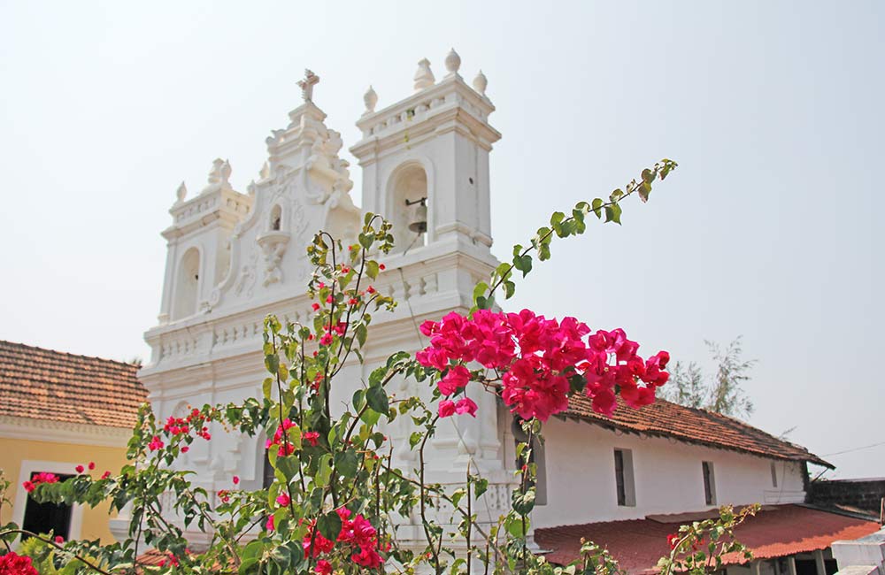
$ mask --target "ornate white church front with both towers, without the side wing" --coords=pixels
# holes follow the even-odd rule
[[[358,120],[362,139],[350,151],[363,170],[362,206],[395,226],[396,249],[384,258],[376,287],[399,302],[373,320],[366,364],[347,365],[336,381],[367,379],[390,353],[427,345],[418,326],[449,311],[469,310],[473,286],[497,265],[491,255],[489,151],[501,135],[489,125],[495,107],[479,73],[473,88],[459,75],[451,50],[446,73],[435,80],[427,59],[419,62],[411,96],[376,111],[372,88]],[[238,402],[259,396],[265,377],[262,322],[273,313],[307,323],[311,302],[304,289],[312,268],[305,248],[324,229],[348,241],[361,226],[351,202],[348,163],[338,156],[340,134],[324,123],[313,103],[319,77],[299,82],[304,103],[289,124],[267,138],[268,159],[246,193],[231,188],[231,167],[215,160],[208,185],[188,198],[182,184],[163,235],[168,256],[158,326],[145,339],[152,354],[139,377],[158,418],[180,415],[189,404]],[[400,382],[399,389],[409,393]],[[337,388],[341,399],[353,389]],[[490,519],[509,509],[512,484],[512,416],[494,396],[474,392],[481,418],[443,421],[428,455],[428,480],[462,483],[467,465],[489,479]],[[405,418],[389,435],[396,458],[411,469]],[[182,465],[197,472],[209,493],[261,487],[264,438],[221,429],[212,441],[196,441]],[[118,523],[119,522],[115,522]],[[200,541],[193,541],[198,547]]]

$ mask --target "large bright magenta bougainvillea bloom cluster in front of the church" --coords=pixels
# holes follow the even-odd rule
[[[639,344],[623,329],[593,333],[575,318],[558,321],[529,310],[479,310],[467,318],[453,311],[439,322],[425,322],[421,333],[430,345],[416,359],[443,372],[437,383],[445,397],[441,417],[475,413],[469,399],[449,399],[479,378],[466,366],[473,362],[500,375],[501,397],[512,412],[542,421],[568,409],[575,384],[592,400],[593,410],[611,416],[618,393],[631,407],[648,405],[669,378],[666,351],[643,359],[637,355]]]

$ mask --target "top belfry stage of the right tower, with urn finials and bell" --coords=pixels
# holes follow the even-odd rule
[[[363,209],[394,224],[396,252],[422,248],[489,253],[489,151],[501,138],[489,125],[495,106],[480,72],[468,86],[451,50],[435,81],[418,63],[414,93],[375,111],[369,88],[357,122],[363,139],[350,148],[363,168]],[[424,222],[422,224],[422,221]]]

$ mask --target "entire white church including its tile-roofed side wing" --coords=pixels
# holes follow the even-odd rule
[[[389,354],[425,347],[421,322],[468,311],[473,286],[498,263],[489,202],[489,154],[501,137],[489,123],[495,106],[482,73],[468,84],[454,51],[444,64],[436,79],[421,60],[414,92],[381,110],[372,88],[364,96],[366,111],[357,121],[362,138],[350,151],[362,170],[362,209],[395,225],[396,249],[384,258],[377,286],[399,305],[374,318],[366,364],[354,362],[338,379],[354,382],[336,390],[342,400]],[[305,254],[312,235],[319,229],[344,239],[358,233],[362,211],[351,200],[342,137],[327,128],[314,103],[318,81],[308,71],[300,82],[304,102],[266,139],[266,164],[246,190],[232,188],[231,166],[221,159],[199,192],[189,195],[183,183],[178,190],[173,223],[163,231],[168,255],[158,325],[145,334],[150,362],[138,374],[158,418],[181,416],[189,404],[259,396],[264,318],[305,322],[311,315],[304,288],[312,273]],[[402,385],[406,391],[409,384]],[[428,479],[460,483],[469,462],[489,479],[480,504],[497,517],[510,505],[512,416],[493,395],[472,396],[481,418],[445,421],[431,442]],[[761,502],[774,513],[805,501],[806,464],[826,464],[700,410],[660,403],[641,415],[622,408],[603,418],[585,407],[574,405],[546,427],[539,461],[543,504],[533,515],[542,548],[556,544],[544,530],[562,525],[704,513],[722,503]],[[411,431],[397,421],[389,433],[404,468],[413,457]],[[197,472],[195,483],[215,493],[236,475],[243,488],[261,487],[264,439],[212,433],[213,441],[196,442],[182,455],[182,465]],[[815,551],[823,553],[809,550]]]

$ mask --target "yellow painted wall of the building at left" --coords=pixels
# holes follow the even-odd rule
[[[71,474],[78,464],[95,462],[96,469],[91,472],[92,477],[99,478],[105,471],[119,472],[126,464],[126,448],[105,448],[94,445],[74,445],[71,443],[53,443],[49,441],[26,441],[18,439],[0,438],[0,469],[4,470],[6,479],[12,482],[7,499],[15,502],[16,493],[22,489],[19,482],[21,462],[24,460],[51,461],[71,464]],[[38,470],[39,471],[39,470]],[[110,503],[105,502],[96,508],[83,508],[83,524],[81,527],[81,539],[100,538],[102,542],[114,541],[108,530],[108,515]],[[0,525],[12,520],[12,506],[4,505],[0,513]]]

